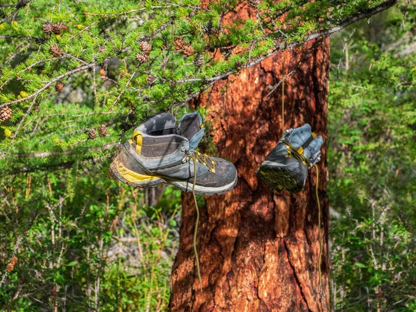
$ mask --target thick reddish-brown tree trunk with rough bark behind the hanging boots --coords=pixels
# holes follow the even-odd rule
[[[233,191],[207,197],[201,207],[198,254],[203,292],[193,256],[195,204],[184,194],[180,245],[171,279],[171,311],[329,311],[329,257],[326,144],[318,164],[322,208],[322,284],[318,273],[318,206],[316,174],[304,190],[277,193],[257,180],[255,171],[281,137],[281,86],[284,74],[285,128],[309,123],[327,138],[329,40],[306,56],[304,44],[220,81],[197,105],[207,107],[210,135],[218,156],[239,171]],[[232,83],[230,87],[223,90]]]

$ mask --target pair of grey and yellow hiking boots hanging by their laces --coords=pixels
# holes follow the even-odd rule
[[[237,182],[235,166],[196,151],[204,132],[198,113],[185,114],[178,126],[172,114],[158,114],[135,129],[110,169],[117,179],[133,187],[167,183],[203,195],[230,191]],[[308,124],[286,130],[257,175],[277,191],[300,191],[308,167],[320,159],[322,143],[322,137],[316,137]]]

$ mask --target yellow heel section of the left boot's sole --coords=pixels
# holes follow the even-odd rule
[[[110,169],[117,179],[121,180],[121,182],[129,184],[132,187],[157,187],[165,182],[160,177],[155,175],[142,175],[135,171],[131,171],[130,169],[125,168],[121,162],[112,162]]]

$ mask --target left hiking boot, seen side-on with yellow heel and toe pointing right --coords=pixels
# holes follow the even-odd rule
[[[172,184],[182,191],[214,195],[233,189],[237,171],[231,162],[198,153],[204,135],[198,113],[185,114],[178,127],[175,116],[159,114],[139,125],[132,139],[110,165],[121,182],[133,187]]]

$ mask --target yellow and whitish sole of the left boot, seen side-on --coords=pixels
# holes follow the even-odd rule
[[[158,187],[160,184],[171,184],[174,187],[177,187],[181,191],[191,192],[193,188],[193,183],[188,181],[171,181],[165,177],[158,177],[155,175],[141,175],[134,171],[130,171],[128,168],[125,168],[120,162],[113,162],[110,164],[110,170],[116,179],[121,182],[130,185],[130,187],[139,187],[140,189],[147,189],[152,187]],[[202,187],[200,185],[195,186],[195,193],[198,195],[216,195],[223,194],[227,191],[234,189],[234,186],[237,184],[237,177],[232,183],[229,183],[223,187]]]

